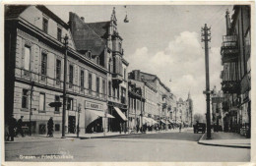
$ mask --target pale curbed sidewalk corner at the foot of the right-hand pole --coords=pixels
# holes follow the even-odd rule
[[[204,134],[199,139],[199,144],[238,147],[238,148],[251,148],[251,139],[244,138],[235,133],[212,133],[212,139],[207,139],[207,134]]]

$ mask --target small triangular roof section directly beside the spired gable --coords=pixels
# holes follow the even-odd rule
[[[108,27],[110,25],[110,21],[109,22],[97,22],[97,23],[88,23],[87,24],[90,28],[94,29],[94,31],[96,32],[96,34],[101,37],[104,42],[106,43],[107,41],[107,33],[108,33]]]

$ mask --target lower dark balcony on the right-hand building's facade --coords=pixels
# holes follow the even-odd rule
[[[222,83],[222,90],[224,93],[237,93],[240,91],[240,84],[238,81],[224,81]]]

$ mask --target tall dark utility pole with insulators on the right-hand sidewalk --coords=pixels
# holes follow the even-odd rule
[[[205,27],[201,29],[202,31],[202,40],[201,42],[205,42],[205,66],[206,66],[206,104],[207,104],[207,114],[206,114],[206,121],[207,121],[207,138],[211,138],[211,114],[210,114],[210,83],[209,83],[209,47],[208,41],[211,41],[211,28],[207,28],[207,24]],[[210,37],[210,38],[208,38]]]

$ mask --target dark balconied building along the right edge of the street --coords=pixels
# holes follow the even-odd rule
[[[250,137],[251,125],[251,25],[250,6],[233,7],[232,22],[226,11],[226,34],[221,49],[224,70],[224,130]]]

